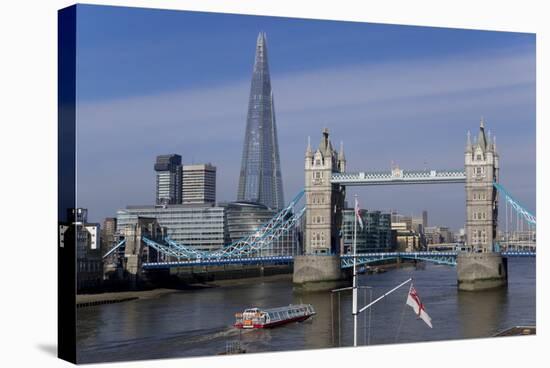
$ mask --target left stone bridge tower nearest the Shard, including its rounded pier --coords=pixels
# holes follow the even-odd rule
[[[332,288],[341,283],[340,229],[345,187],[331,182],[333,173],[346,169],[343,147],[336,151],[323,129],[315,151],[308,142],[305,153],[306,223],[304,255],[294,259],[295,284],[307,289]]]

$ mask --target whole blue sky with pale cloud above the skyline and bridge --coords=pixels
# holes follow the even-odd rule
[[[236,199],[259,31],[286,198],[325,126],[348,171],[461,168],[484,116],[501,183],[535,211],[533,34],[82,5],[77,16],[78,205],[94,221],[153,203],[158,154],[212,162],[218,200]],[[462,185],[357,193],[369,209],[463,226]]]

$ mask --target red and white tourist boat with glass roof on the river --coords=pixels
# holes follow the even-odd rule
[[[315,315],[311,304],[297,304],[285,307],[260,309],[249,308],[235,314],[236,328],[270,328],[290,322],[302,322]]]

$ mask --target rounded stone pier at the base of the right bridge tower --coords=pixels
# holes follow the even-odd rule
[[[500,253],[459,253],[456,259],[458,289],[478,291],[507,285],[507,261]]]

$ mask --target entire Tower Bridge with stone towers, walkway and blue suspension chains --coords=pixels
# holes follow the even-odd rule
[[[488,139],[483,121],[473,142],[470,134],[467,135],[463,169],[414,171],[394,167],[388,171],[346,172],[346,163],[343,147],[336,151],[325,129],[315,151],[308,142],[304,190],[254,233],[219,250],[201,251],[177,244],[148,219],[140,225],[142,229],[129,229],[105,258],[126,257],[129,272],[134,274],[139,270],[172,267],[293,263],[294,282],[307,287],[328,287],[341,282],[344,271],[353,262],[370,264],[396,258],[413,259],[456,266],[459,287],[472,290],[505,284],[507,257],[535,256],[534,247],[525,243],[535,238],[536,218],[499,183],[496,142],[494,138]],[[344,254],[340,230],[348,186],[456,183],[464,184],[466,190],[466,241],[471,252],[451,249],[364,253],[355,259]],[[506,229],[500,238],[497,235],[499,199],[505,203]],[[532,232],[527,240],[525,236],[516,239],[509,235],[508,227],[514,219],[516,230]],[[269,249],[274,240],[296,226],[303,226],[303,249],[297,249],[294,254],[262,256],[262,250]],[[507,251],[499,253],[501,245],[505,245]]]

